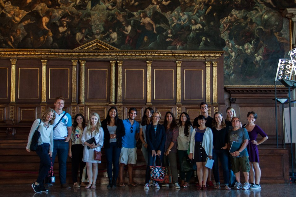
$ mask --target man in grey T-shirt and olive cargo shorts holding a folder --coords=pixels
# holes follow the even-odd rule
[[[241,147],[237,151],[230,153],[230,155],[232,155],[232,171],[236,178],[234,189],[248,190],[250,188],[249,171],[251,167],[249,164],[247,145],[250,138],[248,135],[248,131],[245,128],[241,128],[241,121],[239,118],[233,117],[231,123],[233,128],[228,132],[228,149],[230,149],[233,141],[241,144]],[[243,186],[241,185],[240,167],[245,177],[245,183]]]

